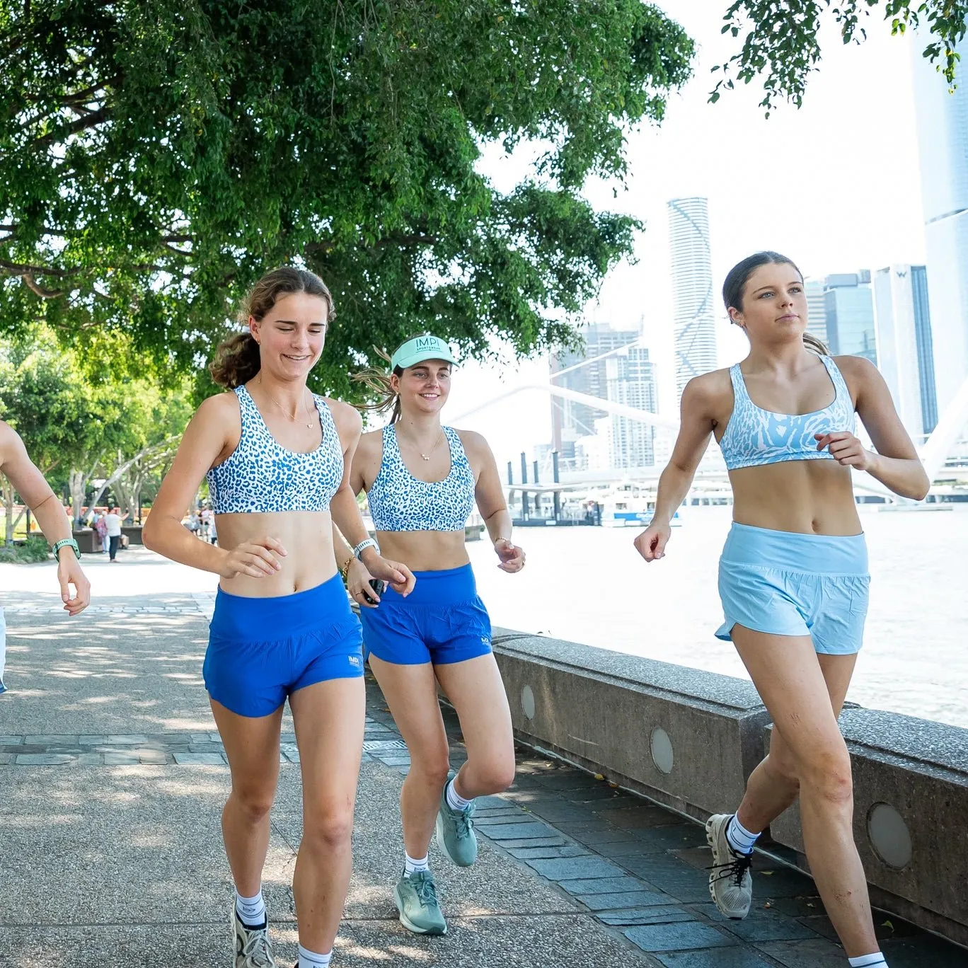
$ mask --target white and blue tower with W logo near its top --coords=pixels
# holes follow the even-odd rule
[[[925,284],[923,265],[892,265],[874,274],[878,367],[916,440],[937,423]]]

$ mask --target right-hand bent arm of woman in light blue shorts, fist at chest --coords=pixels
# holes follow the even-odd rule
[[[817,434],[817,449],[827,447],[841,465],[866,470],[902,498],[923,500],[931,482],[897,415],[888,384],[862,356],[838,357],[837,362],[857,388],[855,406],[876,451],[867,450],[851,431]]]

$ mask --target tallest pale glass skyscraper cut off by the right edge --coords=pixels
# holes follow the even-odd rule
[[[944,412],[968,378],[968,84],[959,76],[950,93],[922,47],[912,45],[914,92],[934,377]]]

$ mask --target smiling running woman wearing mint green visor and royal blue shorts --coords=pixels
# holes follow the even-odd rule
[[[369,585],[372,569],[368,574],[363,566],[369,562],[353,560],[345,545],[338,550],[349,592],[363,606],[370,668],[410,754],[400,797],[404,872],[394,897],[401,923],[420,934],[447,931],[427,860],[435,828],[443,853],[469,866],[477,857],[474,798],[499,793],[514,779],[511,714],[465,547],[475,499],[499,568],[520,571],[525,553],[511,543],[487,441],[440,425],[454,363],[443,340],[418,336],[393,354],[389,375],[371,370],[359,377],[385,394],[377,409],[392,407],[393,416],[360,439],[350,483],[367,492],[380,548],[413,569],[414,592],[405,601],[391,586],[380,599]],[[448,771],[438,683],[457,711],[468,751],[456,776]]]

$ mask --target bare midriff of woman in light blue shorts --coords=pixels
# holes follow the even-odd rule
[[[800,534],[860,534],[851,470],[836,461],[785,461],[729,473],[733,520]]]

